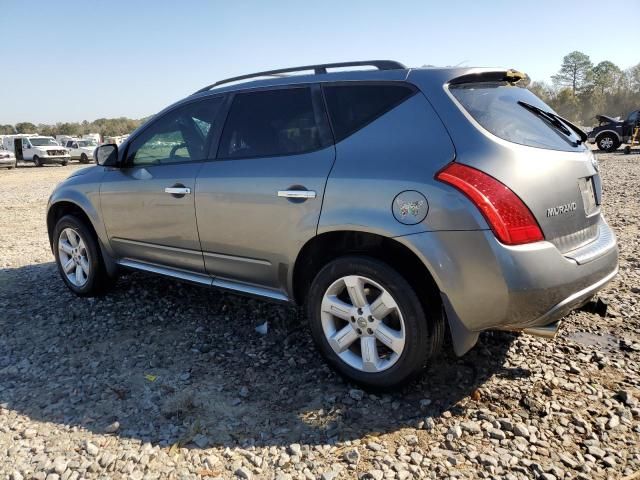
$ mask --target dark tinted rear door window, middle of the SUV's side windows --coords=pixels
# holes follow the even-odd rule
[[[324,146],[309,87],[240,93],[233,99],[218,157],[293,155]]]

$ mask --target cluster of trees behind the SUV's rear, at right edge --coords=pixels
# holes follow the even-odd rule
[[[559,115],[578,125],[597,124],[596,115],[624,118],[640,109],[640,63],[626,70],[608,60],[594,65],[588,55],[575,51],[565,55],[551,83],[527,83]]]

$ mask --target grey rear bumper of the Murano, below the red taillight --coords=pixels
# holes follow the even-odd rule
[[[454,336],[456,331],[477,336],[487,329],[551,324],[593,296],[618,270],[615,235],[603,219],[596,240],[565,254],[546,241],[506,246],[489,230],[428,232],[398,240],[431,271]],[[473,346],[475,339],[469,343]]]

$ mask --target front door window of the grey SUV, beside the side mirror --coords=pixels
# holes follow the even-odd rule
[[[204,160],[222,98],[178,107],[154,120],[128,148],[130,166]]]

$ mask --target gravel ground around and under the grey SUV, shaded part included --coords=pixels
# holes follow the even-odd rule
[[[80,167],[0,171],[0,479],[633,476],[640,156],[599,158],[621,250],[607,317],[487,332],[385,395],[333,374],[293,309],[139,273],[74,297],[44,215]]]

